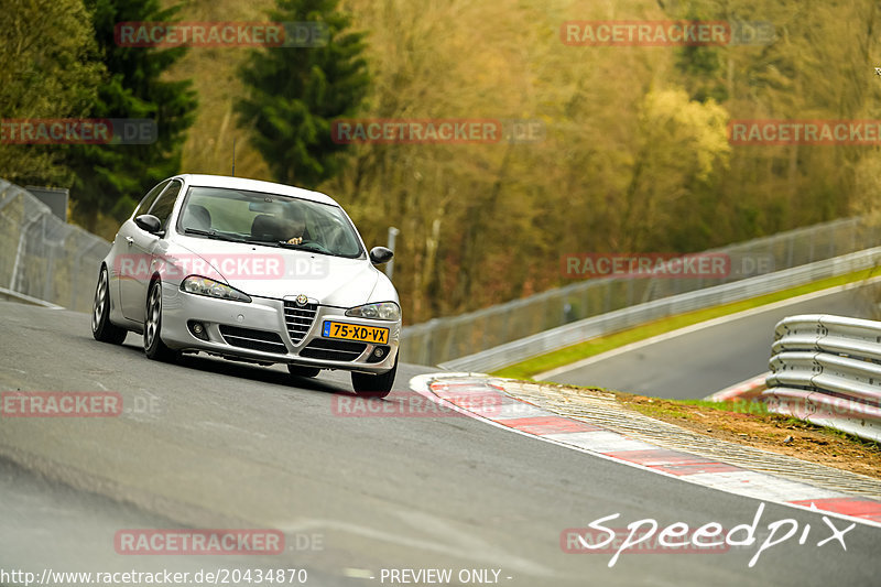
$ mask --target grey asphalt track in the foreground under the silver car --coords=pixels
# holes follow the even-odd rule
[[[403,584],[382,580],[383,568],[450,568],[448,585],[472,585],[455,577],[494,569],[499,584],[531,587],[864,586],[881,572],[880,529],[857,524],[845,551],[823,542],[831,532],[820,515],[771,503],[751,546],[624,553],[612,567],[611,554],[564,553],[564,530],[613,513],[611,528],[653,519],[732,529],[752,523],[760,502],[464,416],[341,415],[347,374],[293,380],[280,367],[202,357],[157,363],[134,335],[122,347],[95,341],[85,314],[4,302],[0,357],[0,391],[109,391],[124,406],[117,417],[0,417],[3,570],[295,567],[308,570],[306,585],[336,586]],[[434,370],[402,366],[400,391],[371,402],[411,401],[410,378]],[[785,519],[796,536],[807,532],[805,543],[769,547],[749,567],[768,524]],[[120,530],[175,528],[274,529],[286,547],[260,556],[115,550]]]

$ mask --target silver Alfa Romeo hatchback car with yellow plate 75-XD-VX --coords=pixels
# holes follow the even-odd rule
[[[401,306],[391,281],[333,198],[269,182],[177,175],[153,187],[113,240],[91,331],[146,356],[207,352],[294,376],[351,371],[359,394],[394,383]]]

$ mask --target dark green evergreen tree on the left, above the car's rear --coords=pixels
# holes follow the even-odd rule
[[[107,76],[89,112],[93,118],[152,119],[156,140],[150,144],[78,144],[68,152],[75,174],[72,199],[77,220],[94,229],[97,213],[124,218],[160,180],[178,173],[187,128],[193,123],[196,96],[192,84],[160,80],[185,47],[119,46],[120,22],[165,21],[176,9],[163,10],[159,0],[85,0]]]

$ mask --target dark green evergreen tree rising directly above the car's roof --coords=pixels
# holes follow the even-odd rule
[[[363,33],[349,31],[336,0],[278,0],[270,18],[319,23],[327,43],[252,52],[239,69],[248,96],[236,109],[276,181],[315,187],[342,164],[334,119],[355,116],[368,91]]]

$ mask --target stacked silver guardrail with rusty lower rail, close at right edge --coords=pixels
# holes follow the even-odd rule
[[[774,328],[770,411],[881,441],[881,322],[807,314]]]

